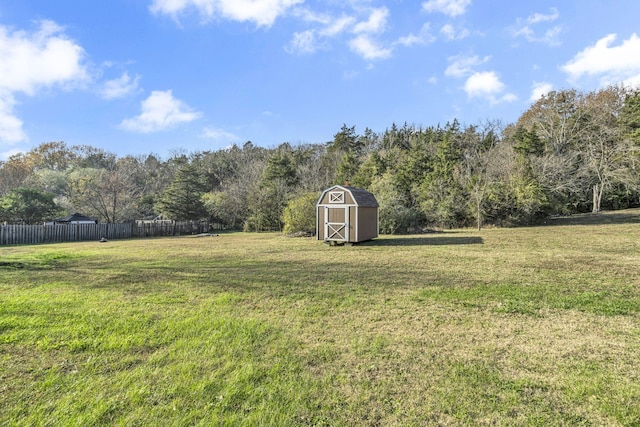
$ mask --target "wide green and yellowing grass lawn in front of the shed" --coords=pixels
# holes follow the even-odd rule
[[[0,425],[640,425],[640,212],[0,247]]]

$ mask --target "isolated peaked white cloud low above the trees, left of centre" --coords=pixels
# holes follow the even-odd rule
[[[123,120],[120,126],[129,131],[150,133],[179,123],[188,123],[202,116],[184,102],[174,98],[170,90],[151,92],[151,95],[142,101],[141,108],[140,115]]]

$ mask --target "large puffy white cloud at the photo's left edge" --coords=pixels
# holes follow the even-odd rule
[[[40,21],[29,33],[0,25],[0,144],[26,141],[22,120],[14,111],[15,94],[35,96],[52,86],[89,80],[84,50],[53,21]]]

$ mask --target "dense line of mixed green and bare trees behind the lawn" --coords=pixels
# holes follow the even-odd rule
[[[640,90],[554,91],[515,123],[384,132],[343,125],[323,144],[117,155],[41,144],[0,162],[0,221],[81,212],[102,222],[164,216],[245,231],[313,231],[332,184],[373,192],[383,233],[534,224],[640,205]]]

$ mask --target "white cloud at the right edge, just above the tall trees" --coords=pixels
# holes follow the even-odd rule
[[[572,82],[583,77],[598,78],[602,86],[640,81],[640,38],[634,33],[618,46],[612,46],[616,34],[609,34],[595,45],[578,52],[561,69]]]

